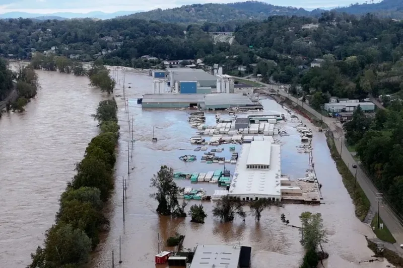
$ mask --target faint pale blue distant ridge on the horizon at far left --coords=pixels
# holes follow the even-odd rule
[[[26,12],[8,12],[0,14],[0,19],[32,18],[37,20],[66,20],[75,18],[95,18],[101,20],[113,19],[120,16],[130,15],[142,11],[117,11],[114,13],[104,13],[93,11],[89,13],[57,12],[51,14],[35,14]]]

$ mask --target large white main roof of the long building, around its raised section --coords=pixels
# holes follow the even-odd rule
[[[252,141],[254,143],[255,141]],[[261,141],[257,141],[261,142]],[[229,195],[263,197],[281,197],[281,145],[272,144],[270,151],[270,166],[268,169],[247,169],[246,162],[252,143],[244,143],[232,178]],[[259,147],[259,154],[268,157],[268,151]]]

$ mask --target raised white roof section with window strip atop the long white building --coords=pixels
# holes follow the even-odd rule
[[[246,160],[246,165],[270,165],[272,143],[269,140],[253,140]]]

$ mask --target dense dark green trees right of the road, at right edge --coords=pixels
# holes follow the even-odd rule
[[[403,106],[392,101],[385,110],[378,110],[374,118],[367,117],[360,108],[353,119],[344,125],[346,139],[355,146],[362,165],[376,188],[399,215],[403,215]]]

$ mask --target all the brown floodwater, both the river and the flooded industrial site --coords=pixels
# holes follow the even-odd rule
[[[115,95],[123,95],[122,74],[119,70]],[[26,107],[26,112],[5,114],[0,120],[0,261],[6,267],[24,267],[30,261],[29,254],[40,245],[44,232],[54,222],[58,210],[58,198],[71,180],[77,161],[83,157],[87,143],[98,132],[91,117],[97,104],[105,96],[88,86],[86,77],[40,71],[42,89]],[[116,76],[112,72],[112,76]],[[189,218],[171,219],[156,214],[156,201],[149,195],[150,178],[161,165],[176,171],[203,172],[222,168],[222,165],[184,163],[178,159],[183,154],[199,156],[193,152],[195,145],[189,137],[195,132],[187,123],[187,111],[143,110],[137,98],[152,93],[152,77],[145,72],[125,71],[126,94],[129,97],[128,113],[124,101],[116,97],[119,107],[120,141],[116,163],[116,191],[110,202],[110,231],[93,255],[92,267],[111,267],[112,250],[115,265],[122,268],[155,267],[154,256],[161,241],[179,232],[184,234],[184,247],[198,244],[241,244],[252,247],[251,267],[298,267],[304,250],[299,243],[296,228],[280,221],[284,213],[290,224],[299,225],[301,212],[320,212],[328,234],[324,249],[330,253],[325,267],[383,268],[386,261],[360,263],[371,259],[364,235],[374,237],[369,226],[354,215],[354,206],[343,186],[333,160],[330,157],[323,133],[314,130],[313,162],[322,187],[323,203],[320,206],[286,205],[263,212],[260,222],[250,215],[245,222],[237,218],[232,223],[221,223],[212,217],[214,202],[204,201],[208,218],[205,224],[191,223]],[[128,88],[130,86],[131,88]],[[262,101],[265,111],[286,113],[272,100]],[[128,118],[134,119],[133,137],[136,140],[127,150],[129,134]],[[207,124],[214,124],[214,113],[207,115]],[[308,122],[305,122],[308,124]],[[282,143],[282,173],[292,179],[302,177],[309,167],[307,154],[297,152],[300,144],[295,124],[285,125],[289,136],[278,137]],[[153,143],[153,126],[158,142]],[[131,147],[131,143],[129,144]],[[224,145],[222,155],[228,155],[229,145]],[[240,146],[236,145],[239,151]],[[128,168],[129,167],[129,168]],[[235,165],[226,164],[231,171]],[[130,175],[127,176],[127,170]],[[127,182],[125,222],[122,213],[121,177]],[[181,186],[189,181],[178,180]],[[204,188],[209,194],[217,185],[198,183],[193,188]],[[201,201],[191,201],[197,204]],[[119,260],[119,236],[121,259]],[[162,245],[163,246],[163,245]],[[270,264],[268,264],[270,263]]]

